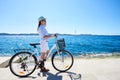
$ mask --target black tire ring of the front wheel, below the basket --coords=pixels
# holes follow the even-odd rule
[[[53,54],[52,59],[51,59],[51,61],[52,61],[52,66],[53,66],[54,69],[56,69],[57,71],[66,72],[66,71],[68,71],[68,70],[73,66],[73,63],[74,63],[73,55],[72,55],[69,51],[66,51],[66,50],[61,50],[61,51],[59,51],[59,52],[66,52],[67,54],[70,55],[70,58],[71,58],[71,60],[72,60],[71,65],[69,66],[69,68],[67,68],[67,69],[65,69],[65,70],[60,70],[59,68],[57,68],[57,67],[55,66],[55,63],[54,63],[55,56],[57,55],[57,51],[56,51],[56,52]]]

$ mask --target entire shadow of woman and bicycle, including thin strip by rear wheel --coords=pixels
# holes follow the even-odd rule
[[[67,77],[69,78],[67,80],[81,80],[82,78],[81,74],[77,74],[73,72],[57,72],[56,74],[53,74],[50,72],[40,72],[38,76],[47,77],[46,80],[62,80],[64,74],[67,74]],[[36,79],[38,77],[28,76],[28,77],[22,77],[22,78]]]

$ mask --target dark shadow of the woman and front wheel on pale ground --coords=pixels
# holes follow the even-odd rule
[[[42,76],[47,77],[47,80],[62,80],[62,74],[66,73],[70,80],[81,80],[81,74],[73,72],[57,72],[56,74],[50,72],[41,72]],[[61,74],[61,75],[60,75]]]

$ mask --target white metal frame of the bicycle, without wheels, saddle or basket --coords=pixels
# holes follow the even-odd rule
[[[50,51],[49,51],[49,53],[48,53],[48,55],[47,55],[46,60],[50,57],[50,55],[51,55],[51,53],[52,53],[52,51],[53,51],[54,49],[56,49],[56,51],[57,51],[58,54],[60,53],[60,52],[59,52],[59,49],[58,49],[58,47],[57,47],[57,39],[56,39],[56,38],[55,38],[55,42],[54,42],[52,48],[50,49]],[[37,48],[35,48],[33,54],[35,54],[35,53],[37,54],[37,56],[39,56],[39,51],[38,51]],[[39,60],[39,58],[38,58],[38,60]]]

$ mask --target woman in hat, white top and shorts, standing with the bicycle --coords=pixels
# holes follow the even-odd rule
[[[46,61],[47,55],[49,53],[48,47],[48,39],[55,37],[55,35],[49,35],[46,30],[46,19],[41,16],[38,19],[38,33],[40,35],[40,49],[41,49],[41,56],[40,56],[40,68],[41,72],[48,72],[49,69],[44,67],[44,62]]]

